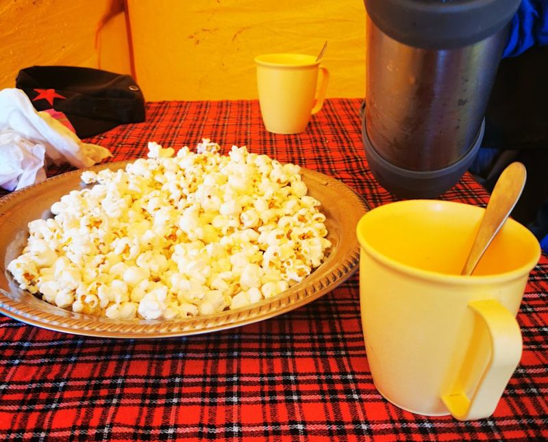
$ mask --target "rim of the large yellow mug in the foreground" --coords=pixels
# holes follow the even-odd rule
[[[534,252],[534,258],[528,260],[526,263],[521,265],[519,268],[515,268],[514,270],[510,270],[508,272],[501,272],[497,274],[487,274],[487,275],[460,275],[460,274],[447,274],[442,272],[434,272],[433,270],[425,270],[421,268],[414,267],[412,265],[408,265],[406,263],[401,263],[400,261],[397,261],[396,259],[390,258],[386,256],[384,253],[379,252],[374,246],[372,246],[364,237],[364,228],[362,227],[363,224],[366,222],[366,217],[372,213],[373,211],[384,211],[384,207],[387,206],[393,206],[393,205],[419,205],[419,207],[427,207],[429,205],[434,204],[440,204],[440,205],[458,205],[458,206],[464,206],[464,207],[470,207],[471,209],[466,210],[472,210],[472,211],[485,211],[485,207],[479,207],[474,206],[470,204],[465,203],[458,203],[456,201],[447,201],[447,200],[403,200],[403,201],[395,201],[393,203],[387,203],[378,207],[375,207],[374,209],[371,209],[369,212],[365,213],[362,218],[358,221],[358,224],[356,225],[356,235],[358,237],[358,242],[360,243],[360,249],[363,250],[366,253],[369,253],[371,257],[379,261],[380,263],[383,263],[384,265],[387,265],[389,268],[393,268],[395,270],[399,270],[400,272],[404,272],[406,274],[410,274],[411,276],[415,276],[417,278],[426,279],[429,281],[437,281],[440,283],[453,283],[457,285],[475,285],[476,283],[484,283],[484,282],[490,282],[490,281],[512,281],[516,278],[521,278],[525,275],[528,275],[531,270],[537,265],[541,250],[540,250],[540,244],[538,243],[536,237],[534,237],[533,233],[527,229],[523,224],[517,222],[516,220],[513,220],[512,218],[508,218],[506,222],[509,222],[514,226],[514,228],[519,229],[525,233],[525,235],[529,236],[530,239],[534,239],[532,244],[534,244],[534,248],[536,248],[536,251]],[[464,263],[463,263],[464,265]]]

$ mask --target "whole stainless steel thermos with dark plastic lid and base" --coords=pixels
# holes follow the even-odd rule
[[[471,165],[520,0],[364,0],[362,137],[387,190],[435,198]]]

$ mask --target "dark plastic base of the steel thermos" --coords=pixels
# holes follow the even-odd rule
[[[365,124],[362,124],[362,138],[369,168],[379,183],[400,198],[437,198],[458,183],[471,166],[484,138],[485,120],[468,153],[456,163],[438,170],[408,170],[394,166],[384,159],[371,144]]]

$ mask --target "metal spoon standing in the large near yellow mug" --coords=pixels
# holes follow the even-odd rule
[[[484,218],[479,225],[479,230],[461,274],[472,274],[479,259],[482,258],[485,250],[518,202],[525,186],[526,177],[525,166],[519,162],[510,164],[502,171],[491,193]]]

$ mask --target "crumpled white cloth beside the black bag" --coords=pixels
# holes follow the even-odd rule
[[[93,166],[112,154],[83,143],[47,112],[37,112],[25,92],[0,90],[0,187],[18,190],[43,181],[47,160],[77,168]]]

